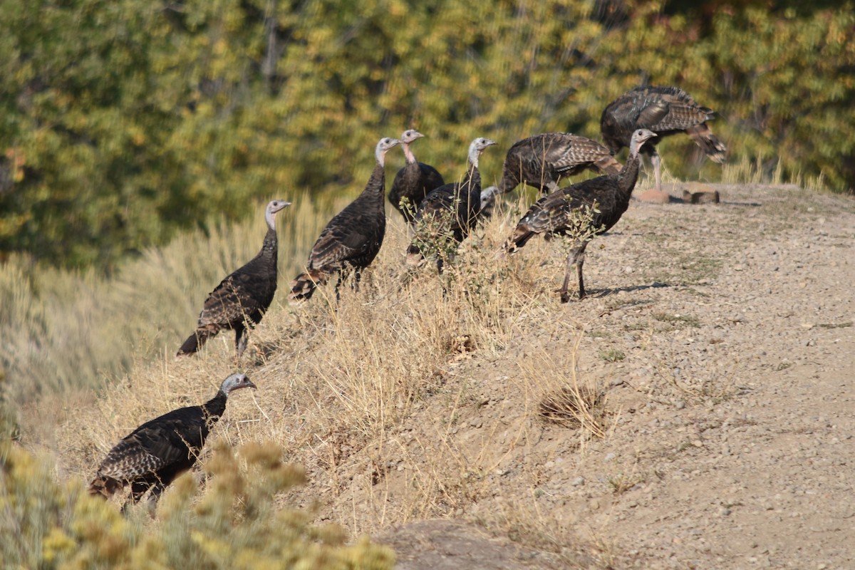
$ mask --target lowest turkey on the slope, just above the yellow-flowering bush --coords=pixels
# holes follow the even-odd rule
[[[89,493],[108,498],[130,484],[131,500],[139,502],[150,489],[153,507],[163,490],[196,463],[205,438],[226,410],[228,395],[255,387],[245,374],[235,373],[223,380],[216,396],[207,403],[174,409],[146,421],[109,450],[89,485]]]

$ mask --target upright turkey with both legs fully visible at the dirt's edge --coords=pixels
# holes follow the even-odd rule
[[[586,232],[595,234],[607,232],[621,219],[629,207],[635,181],[638,179],[641,145],[656,134],[647,129],[638,129],[633,133],[629,144],[629,159],[621,172],[606,174],[594,179],[583,180],[548,196],[540,198],[528,209],[528,212],[516,225],[513,235],[505,245],[513,253],[522,248],[532,236],[543,233],[548,239],[552,235],[579,237]],[[579,213],[588,209],[593,215],[590,222]],[[590,235],[590,234],[589,234]],[[585,248],[588,239],[572,243],[567,256],[567,271],[561,291],[561,302],[569,301],[568,285],[570,267],[576,266],[579,275],[579,298],[585,297],[585,282],[582,279],[582,264],[585,262]]]

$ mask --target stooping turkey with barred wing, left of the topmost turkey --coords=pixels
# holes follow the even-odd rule
[[[621,171],[621,163],[595,140],[569,132],[544,132],[510,147],[504,157],[498,191],[510,192],[522,182],[540,191],[554,192],[561,179],[585,168],[615,174]]]

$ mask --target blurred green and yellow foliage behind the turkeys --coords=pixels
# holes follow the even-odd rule
[[[605,104],[646,82],[716,109],[731,160],[846,191],[855,10],[793,6],[6,0],[0,255],[110,269],[274,195],[355,195],[376,141],[410,126],[451,179],[475,136],[598,138]],[[660,148],[678,176],[717,176],[687,139]]]

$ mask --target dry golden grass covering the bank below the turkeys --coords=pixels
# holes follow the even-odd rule
[[[516,209],[526,205],[520,200]],[[530,442],[542,432],[569,429],[579,446],[602,437],[601,386],[575,366],[583,327],[549,322],[560,272],[544,273],[561,260],[542,240],[528,256],[503,258],[511,219],[488,220],[439,275],[431,264],[415,272],[405,267],[409,232],[392,217],[358,291],[343,286],[336,303],[327,285],[309,303],[292,306],[282,287],[241,363],[259,390],[231,399],[213,441],[279,444],[310,479],[306,490],[282,500],[318,502],[321,519],[339,521],[356,536],[460,515],[503,496],[504,477],[516,473],[519,456],[532,453]],[[549,338],[575,340],[554,355],[521,360],[518,369],[504,371],[504,381],[473,375],[471,367],[518,344],[533,322]],[[171,336],[164,343],[170,348],[180,340],[179,333]],[[64,472],[90,478],[134,426],[211,397],[233,371],[233,336],[220,335],[192,358],[171,355],[164,350],[154,361],[137,362],[93,405],[63,410],[56,450]],[[556,394],[563,399],[545,421],[543,405]],[[203,452],[201,466],[209,455]],[[533,490],[542,479],[540,469],[520,475]],[[551,527],[536,509],[520,514],[520,528]],[[482,520],[494,529],[508,524]],[[570,539],[564,532],[538,536],[521,540],[561,552],[559,544]]]

